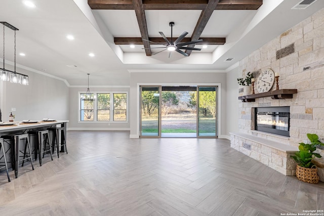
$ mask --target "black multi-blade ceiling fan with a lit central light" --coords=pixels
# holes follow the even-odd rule
[[[203,42],[203,39],[198,39],[198,40],[193,40],[193,41],[189,41],[189,42],[180,42],[187,34],[188,32],[184,31],[175,41],[173,41],[173,37],[172,37],[172,27],[174,26],[174,22],[170,22],[169,26],[171,26],[171,40],[169,41],[168,38],[166,37],[166,35],[159,31],[158,33],[163,37],[163,39],[167,42],[167,44],[158,44],[156,42],[150,41],[150,40],[146,40],[149,42],[152,42],[153,44],[158,44],[158,45],[163,45],[164,47],[156,47],[156,48],[146,48],[146,49],[160,49],[160,48],[164,48],[164,50],[159,51],[157,53],[154,53],[153,55],[156,55],[160,52],[163,52],[165,50],[169,50],[169,51],[176,51],[184,56],[189,56],[188,54],[186,54],[185,52],[183,52],[182,50],[197,50],[200,51],[201,49],[199,48],[191,48],[191,47],[184,47],[187,45],[191,45],[191,44],[197,44],[198,42]],[[145,48],[144,48],[145,49]],[[169,52],[169,58],[171,57],[172,52]]]

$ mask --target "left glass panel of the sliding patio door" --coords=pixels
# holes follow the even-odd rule
[[[160,92],[158,86],[140,87],[140,137],[160,137]]]

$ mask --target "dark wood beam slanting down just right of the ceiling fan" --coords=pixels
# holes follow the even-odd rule
[[[209,0],[208,5],[206,8],[201,11],[198,22],[196,24],[196,27],[194,28],[192,35],[191,35],[191,40],[197,40],[199,39],[201,33],[203,33],[209,19],[211,18],[219,0]],[[187,47],[194,47],[194,44],[188,45]],[[190,55],[192,50],[186,50],[186,54]]]

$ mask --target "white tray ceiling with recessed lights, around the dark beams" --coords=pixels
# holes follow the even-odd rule
[[[91,10],[87,0],[31,1],[35,8],[27,8],[22,0],[0,3],[0,21],[19,29],[16,71],[20,66],[31,68],[65,79],[71,86],[87,85],[87,73],[90,85],[129,85],[129,71],[225,70],[324,7],[320,0],[305,10],[291,10],[300,0],[264,0],[258,11],[215,10],[201,37],[226,37],[226,44],[193,51],[189,57],[174,53],[168,58],[169,51],[146,56],[143,46],[114,45],[113,37],[141,37],[133,10]],[[173,21],[173,37],[184,31],[191,36],[199,15],[197,10],[145,11],[148,34],[160,37],[158,31],[163,31],[170,37],[169,22]],[[68,40],[67,34],[75,39]],[[6,28],[9,64],[14,61],[13,38],[13,31]],[[21,52],[26,56],[20,56]],[[224,62],[227,58],[234,60]]]

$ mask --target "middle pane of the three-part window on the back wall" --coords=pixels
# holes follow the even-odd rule
[[[109,121],[110,113],[110,94],[100,93],[97,94],[97,120]]]

